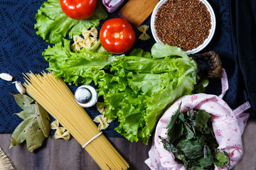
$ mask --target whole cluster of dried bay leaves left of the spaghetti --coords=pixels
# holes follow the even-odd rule
[[[38,103],[33,104],[33,99],[25,94],[13,95],[16,103],[23,111],[15,113],[23,119],[11,135],[11,147],[21,144],[26,140],[29,152],[41,147],[43,141],[50,134],[50,116]]]

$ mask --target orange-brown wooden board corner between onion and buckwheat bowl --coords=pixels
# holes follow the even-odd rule
[[[136,29],[150,16],[158,2],[159,0],[129,0],[118,14]]]

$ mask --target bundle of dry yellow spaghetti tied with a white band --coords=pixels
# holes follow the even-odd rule
[[[27,93],[43,108],[59,120],[80,145],[90,142],[84,148],[101,169],[128,169],[129,164],[117,152],[105,135],[100,134],[97,125],[85,109],[78,105],[75,96],[62,79],[56,79],[53,72],[24,74]]]

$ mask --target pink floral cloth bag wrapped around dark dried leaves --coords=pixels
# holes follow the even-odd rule
[[[224,73],[224,81],[222,81],[223,93],[228,89],[228,81],[225,75]],[[194,108],[197,110],[203,109],[212,115],[213,130],[219,145],[218,149],[228,152],[230,156],[230,169],[232,169],[242,157],[242,132],[249,118],[249,114],[243,112],[250,108],[250,103],[247,102],[237,109],[232,110],[221,97],[223,95],[193,94],[179,98],[170,106],[156,125],[154,139],[149,150],[149,159],[145,161],[149,168],[157,170],[186,169],[185,166],[175,161],[173,153],[164,149],[159,139],[159,136],[167,139],[165,134],[166,125],[169,123],[171,115],[174,114],[182,102],[181,113],[188,111],[188,108]],[[216,169],[219,168],[215,166]],[[228,169],[228,166],[223,166],[220,169]]]

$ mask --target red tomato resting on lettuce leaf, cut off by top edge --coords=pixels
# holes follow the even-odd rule
[[[92,16],[97,0],[60,0],[60,7],[66,16],[82,20]]]

